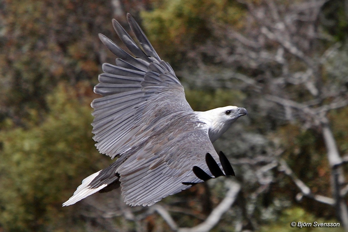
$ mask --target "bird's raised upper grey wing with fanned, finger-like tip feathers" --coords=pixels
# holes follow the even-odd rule
[[[95,119],[92,123],[97,149],[112,158],[130,149],[139,139],[140,128],[150,121],[177,111],[193,112],[185,99],[184,89],[171,66],[162,61],[134,18],[127,14],[130,27],[143,50],[122,26],[112,24],[120,39],[135,57],[99,35],[106,47],[118,56],[116,65],[103,64],[94,92],[103,97],[94,99]],[[144,117],[147,105],[156,105],[156,112]]]

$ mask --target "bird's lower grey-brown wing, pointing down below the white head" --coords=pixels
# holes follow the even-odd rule
[[[197,130],[199,122],[195,116],[187,115],[179,119],[179,122],[162,122],[164,130],[163,127],[158,127],[152,132],[153,136],[149,136],[145,141],[148,147],[140,146],[132,151],[132,157],[137,159],[125,160],[116,170],[120,175],[122,195],[130,205],[152,205],[168,195],[189,188],[190,186],[184,182],[203,182],[194,173],[195,166],[207,175],[204,180],[214,177],[210,169],[215,175],[224,175],[219,156],[206,131]],[[182,124],[182,127],[177,127],[176,123]],[[160,141],[156,134],[161,135]],[[172,134],[176,134],[175,138],[167,141]],[[206,153],[209,153],[209,156],[205,155]],[[153,169],[154,166],[156,167]]]

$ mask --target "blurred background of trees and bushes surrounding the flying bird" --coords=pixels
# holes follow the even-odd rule
[[[193,110],[248,110],[214,143],[236,177],[156,207],[126,206],[119,190],[62,207],[112,162],[89,104],[115,59],[98,33],[124,48],[111,19],[130,32],[127,12]],[[0,232],[198,231],[231,181],[240,189],[211,231],[348,231],[347,41],[347,0],[1,0]]]

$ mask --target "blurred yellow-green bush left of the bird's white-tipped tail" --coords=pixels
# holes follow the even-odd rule
[[[103,155],[90,132],[90,97],[85,99],[90,87],[77,87],[58,85],[47,97],[49,113],[39,125],[32,120],[26,130],[0,132],[0,225],[6,231],[54,228],[67,220],[72,215],[62,202],[98,169]]]

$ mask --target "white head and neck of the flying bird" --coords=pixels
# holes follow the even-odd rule
[[[248,114],[245,108],[231,105],[197,113],[199,113],[199,118],[207,123],[209,138],[212,142],[219,138],[240,116]]]

